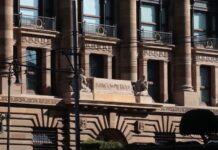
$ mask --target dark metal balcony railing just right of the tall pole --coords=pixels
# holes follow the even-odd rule
[[[105,37],[117,37],[116,26],[80,22],[79,27],[80,31],[83,34],[91,34]]]

